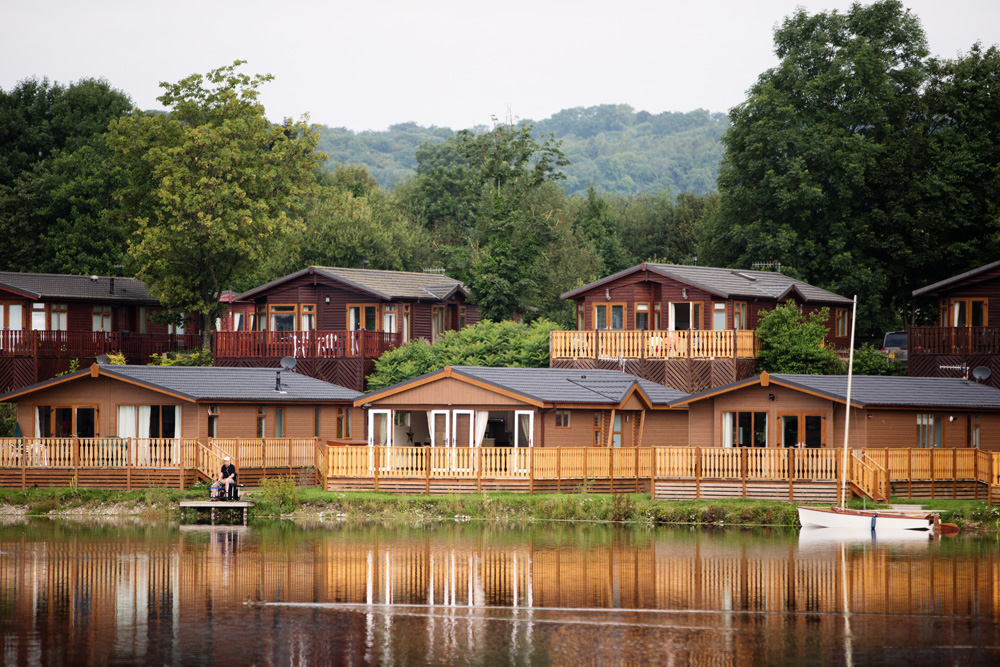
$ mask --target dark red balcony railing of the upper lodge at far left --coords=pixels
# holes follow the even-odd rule
[[[154,353],[195,349],[198,344],[198,334],[0,330],[0,357],[94,358],[121,352],[145,363]]]

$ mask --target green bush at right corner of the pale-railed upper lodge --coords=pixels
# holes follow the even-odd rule
[[[762,312],[757,327],[758,372],[813,375],[844,372],[840,358],[825,346],[829,318],[827,308],[805,317],[792,302]]]

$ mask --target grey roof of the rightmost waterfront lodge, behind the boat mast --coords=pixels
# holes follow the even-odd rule
[[[772,384],[847,401],[846,375],[798,375],[775,373]],[[672,405],[691,403],[731,389],[759,384],[760,376],[692,394]],[[1000,409],[1000,389],[962,378],[855,375],[851,381],[851,404],[863,408],[897,407],[926,409]]]

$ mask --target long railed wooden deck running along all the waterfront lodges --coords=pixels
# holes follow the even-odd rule
[[[368,447],[316,438],[0,439],[0,486],[189,488],[229,456],[240,482],[291,477],[330,491],[651,493],[654,498],[835,502],[842,450],[699,447]],[[1000,452],[852,450],[850,491],[872,499],[1000,497]]]

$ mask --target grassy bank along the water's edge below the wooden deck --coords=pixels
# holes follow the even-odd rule
[[[177,515],[177,503],[204,499],[204,489],[178,491],[99,491],[0,489],[0,513]],[[396,496],[388,493],[331,493],[269,482],[254,490],[255,517],[343,518],[367,520],[615,521],[640,525],[795,526],[795,506],[762,500],[664,501],[648,494],[515,494]],[[894,500],[894,502],[897,502]],[[900,500],[898,502],[906,502]],[[930,502],[930,501],[928,501]],[[861,503],[858,502],[860,507]],[[1000,529],[1000,507],[985,501],[935,500],[942,521],[966,529]]]

